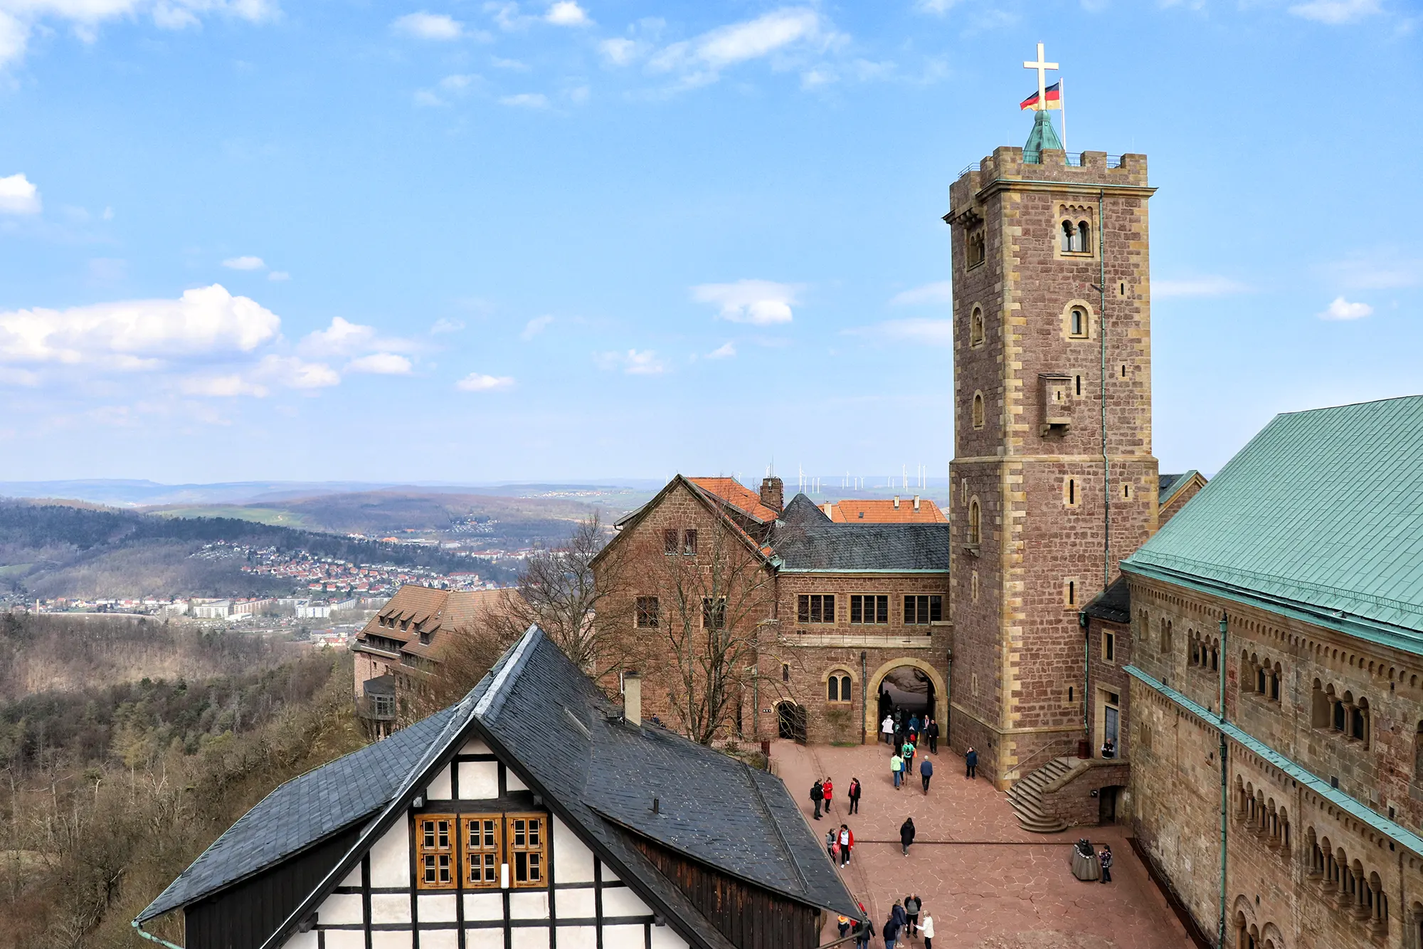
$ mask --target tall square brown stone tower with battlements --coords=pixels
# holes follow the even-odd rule
[[[973,745],[1000,788],[1076,754],[1084,714],[1111,714],[1113,694],[1084,681],[1086,650],[1101,644],[1086,643],[1079,611],[1157,519],[1146,155],[1069,162],[1046,120],[1027,151],[965,170],[943,218],[951,742]]]

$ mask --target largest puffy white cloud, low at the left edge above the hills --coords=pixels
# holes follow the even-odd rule
[[[0,361],[155,369],[184,355],[252,352],[282,321],[221,284],[178,299],[0,312]]]

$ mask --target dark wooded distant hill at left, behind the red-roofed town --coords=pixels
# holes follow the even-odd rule
[[[40,597],[262,596],[293,584],[243,573],[235,559],[191,554],[206,543],[276,547],[354,563],[464,570],[508,580],[512,571],[438,547],[353,540],[232,517],[157,517],[73,504],[0,502],[0,593]]]

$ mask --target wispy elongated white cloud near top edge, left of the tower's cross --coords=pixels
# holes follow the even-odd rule
[[[714,83],[721,70],[783,54],[791,48],[825,50],[844,37],[810,7],[783,7],[754,20],[717,27],[693,40],[673,43],[649,61],[655,73],[683,73],[684,85]]]

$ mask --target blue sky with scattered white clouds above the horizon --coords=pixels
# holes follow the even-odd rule
[[[1036,43],[1163,472],[1423,392],[1416,3],[0,0],[0,480],[943,477]]]

